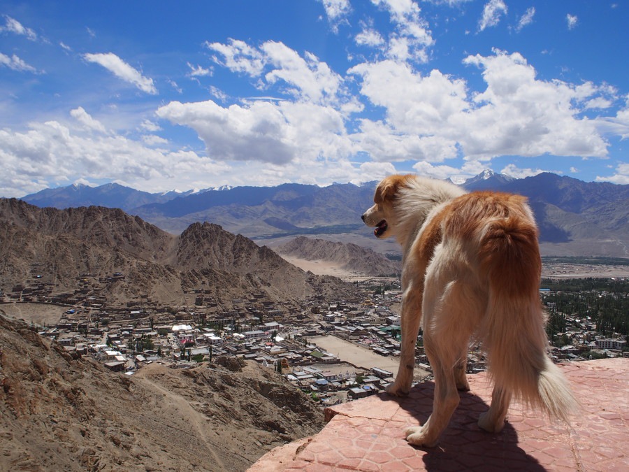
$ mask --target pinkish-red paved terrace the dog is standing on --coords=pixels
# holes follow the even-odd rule
[[[489,408],[485,373],[468,376],[471,390],[436,448],[409,445],[403,431],[423,424],[432,409],[433,383],[405,399],[386,394],[326,409],[317,436],[268,452],[250,468],[266,471],[629,471],[629,359],[565,364],[581,403],[572,424],[551,422],[517,403],[500,434],[477,426]]]

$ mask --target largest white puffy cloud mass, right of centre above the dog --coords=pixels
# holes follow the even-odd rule
[[[442,162],[459,153],[479,162],[500,155],[607,156],[600,120],[582,116],[605,87],[539,80],[518,53],[496,50],[464,63],[482,70],[484,91],[393,61],[350,69],[361,79],[361,94],[385,110],[384,121],[361,121],[354,136],[361,150],[379,161]]]

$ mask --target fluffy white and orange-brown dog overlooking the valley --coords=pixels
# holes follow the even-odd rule
[[[478,421],[498,433],[514,399],[561,420],[577,401],[547,353],[539,288],[537,225],[526,198],[465,192],[431,178],[394,175],[375,190],[363,222],[402,246],[400,366],[386,392],[410,392],[419,327],[433,368],[435,396],[426,423],[406,430],[412,445],[433,447],[459,403],[470,340],[481,343],[494,382]]]

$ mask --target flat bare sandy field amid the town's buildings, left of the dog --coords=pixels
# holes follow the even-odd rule
[[[393,356],[381,356],[374,352],[363,348],[362,346],[350,343],[336,336],[315,336],[308,338],[308,341],[315,343],[319,348],[326,350],[330,354],[337,356],[343,362],[349,362],[356,367],[369,370],[372,367],[378,369],[384,369],[385,371],[393,372],[393,376],[398,373],[398,364],[400,363],[399,357]],[[326,370],[333,371],[331,366],[324,366]],[[345,372],[347,368],[341,366],[339,372]],[[334,373],[337,373],[333,371]],[[421,378],[428,375],[428,372],[419,368],[415,368],[415,378]]]

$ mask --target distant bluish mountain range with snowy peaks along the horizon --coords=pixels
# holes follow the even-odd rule
[[[84,204],[109,206],[117,189],[121,195],[117,201],[124,200],[125,205],[120,208],[175,234],[194,222],[208,221],[266,241],[282,236],[327,235],[379,252],[395,252],[394,245],[376,243],[360,220],[371,205],[376,185],[375,181],[328,187],[284,184],[194,194],[145,194],[109,185],[92,189],[91,199]],[[516,179],[484,171],[461,186],[470,191],[499,190],[527,196],[540,227],[544,255],[629,257],[629,185],[586,183],[553,173]],[[55,192],[44,190],[23,200],[66,208],[69,201],[73,206],[80,203],[80,199],[68,196],[75,194],[71,186]],[[102,196],[97,197],[99,194]],[[126,195],[124,199],[122,195]]]

